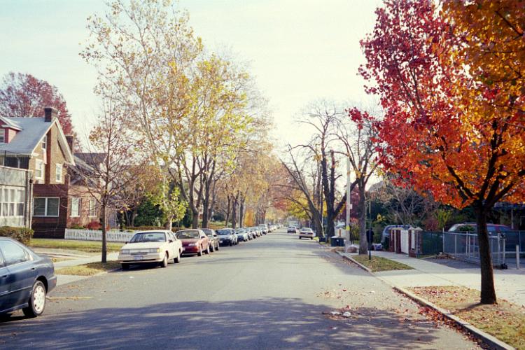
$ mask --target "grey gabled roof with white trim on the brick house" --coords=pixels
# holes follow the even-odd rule
[[[62,127],[60,127],[60,123],[58,123],[57,119],[52,120],[52,122],[46,122],[45,118],[1,117],[0,120],[5,123],[5,125],[13,125],[20,130],[8,144],[0,144],[0,152],[6,151],[18,155],[33,155],[36,146],[40,144],[43,137],[48,133],[51,127],[56,124],[58,128],[58,142],[64,151],[66,163],[71,165],[75,164],[73,154],[67,144],[66,136],[64,135],[64,131],[62,131]],[[13,126],[9,127],[15,129]]]

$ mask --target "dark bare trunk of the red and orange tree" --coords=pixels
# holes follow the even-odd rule
[[[486,213],[489,209],[479,204],[477,208],[477,241],[479,244],[479,260],[481,267],[481,303],[496,304],[496,289],[494,288],[494,272],[489,244],[489,231],[486,228]]]

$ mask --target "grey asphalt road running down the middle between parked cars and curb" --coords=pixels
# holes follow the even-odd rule
[[[0,349],[472,349],[315,241],[274,232],[59,286],[43,316],[0,323]],[[349,307],[351,316],[332,316]]]

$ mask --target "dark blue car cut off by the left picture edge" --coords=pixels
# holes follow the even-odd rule
[[[45,295],[56,285],[50,258],[14,239],[0,237],[0,314],[22,309],[28,317],[40,316]]]

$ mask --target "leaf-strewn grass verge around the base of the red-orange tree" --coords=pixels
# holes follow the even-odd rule
[[[432,286],[409,290],[503,342],[525,349],[524,307],[501,299],[495,305],[479,304],[479,291],[465,287]]]

